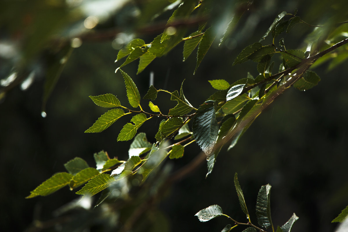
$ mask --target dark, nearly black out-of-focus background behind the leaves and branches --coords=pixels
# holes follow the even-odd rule
[[[2,14],[1,17],[0,35],[3,41],[16,42],[14,32],[27,32],[15,23],[24,20],[26,13],[41,10],[40,1],[20,2],[18,4],[23,6],[1,3],[4,5],[1,11],[11,11],[11,15],[6,17]],[[25,8],[23,2],[29,8]],[[149,87],[150,72],[154,73],[154,86],[169,91],[179,89],[185,79],[185,96],[193,106],[198,107],[214,93],[208,80],[226,79],[233,83],[246,77],[248,71],[254,76],[258,74],[252,62],[237,66],[231,64],[241,49],[262,37],[279,11],[292,12],[298,8],[298,14],[305,21],[321,24],[332,13],[338,15],[341,8],[347,9],[342,7],[344,2],[335,5],[330,1],[255,1],[226,44],[221,47],[214,44],[208,51],[195,75],[195,57],[192,55],[183,63],[182,45],[167,56],[156,58],[139,75],[136,75],[137,62],[124,67],[124,71],[133,78],[142,96]],[[127,4],[125,9],[137,5],[142,7],[144,3],[134,1]],[[215,12],[223,11],[224,4],[230,2],[216,3]],[[163,19],[169,15],[163,16]],[[252,17],[248,17],[250,15]],[[126,13],[118,12],[100,24],[98,29],[114,26],[124,28],[136,22],[136,18],[126,16]],[[341,14],[341,17],[345,16],[347,13]],[[13,24],[7,24],[11,21]],[[45,25],[50,22],[35,23]],[[305,34],[311,30],[299,25],[291,37],[287,35],[287,46],[301,47]],[[40,33],[40,30],[35,33]],[[159,33],[161,31],[139,34],[137,37],[150,42]],[[79,156],[92,166],[93,153],[101,150],[107,151],[110,157],[127,159],[130,142],[116,142],[116,138],[122,126],[129,121],[128,118],[121,118],[102,133],[84,133],[105,112],[94,105],[88,96],[112,93],[121,102],[127,102],[123,78],[120,73],[114,73],[120,63],[114,64],[117,50],[111,46],[112,39],[83,41],[81,47],[73,50],[47,102],[46,118],[41,117],[43,73],[39,72],[27,90],[14,87],[1,99],[0,220],[3,231],[25,231],[33,221],[53,218],[55,209],[77,198],[74,191],[65,187],[48,197],[24,199],[42,181],[56,172],[64,171],[66,161]],[[40,46],[45,44],[41,43]],[[42,53],[44,51],[38,54]],[[46,60],[44,55],[41,56],[30,58],[26,64],[41,65],[44,72]],[[11,63],[2,57],[0,67],[0,78],[6,78]],[[225,214],[239,221],[245,220],[233,185],[235,172],[238,173],[253,221],[256,221],[254,207],[257,192],[261,185],[270,183],[274,224],[283,225],[295,212],[300,218],[295,224],[295,231],[334,230],[336,224],[331,224],[331,220],[348,204],[347,62],[330,71],[323,64],[315,71],[322,78],[318,86],[306,92],[293,88],[286,91],[256,119],[236,147],[228,152],[223,149],[213,173],[206,179],[206,165],[203,163],[171,186],[159,202],[159,209],[168,219],[171,231],[221,231],[230,223],[226,218],[201,223],[193,216],[200,209],[213,204],[220,205]],[[162,111],[174,106],[168,96],[160,96],[163,97],[156,104]],[[143,102],[145,105],[146,101]],[[153,137],[158,124],[159,120],[150,120],[139,132],[146,132],[149,141],[155,142]],[[169,160],[168,163],[175,171],[199,152],[199,147],[192,144],[185,150],[182,159]],[[59,227],[51,229],[59,230]]]

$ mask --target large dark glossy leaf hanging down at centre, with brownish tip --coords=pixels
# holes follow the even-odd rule
[[[213,151],[219,133],[214,104],[203,104],[198,108],[193,118],[192,132],[197,144],[209,155]]]

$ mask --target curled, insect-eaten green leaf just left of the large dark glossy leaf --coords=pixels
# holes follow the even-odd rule
[[[181,83],[180,87],[180,95],[177,90],[175,90],[173,93],[171,93],[171,100],[177,101],[177,105],[169,110],[169,115],[171,116],[182,116],[184,114],[187,114],[191,112],[193,109],[193,106],[187,101],[185,98],[184,92],[182,91],[182,85],[184,82]]]

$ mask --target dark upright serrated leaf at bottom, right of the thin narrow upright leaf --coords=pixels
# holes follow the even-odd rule
[[[263,185],[256,201],[256,216],[260,226],[268,229],[272,227],[270,207],[271,185]]]

